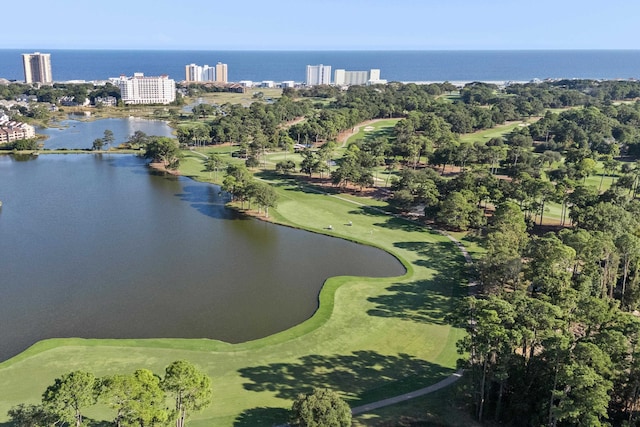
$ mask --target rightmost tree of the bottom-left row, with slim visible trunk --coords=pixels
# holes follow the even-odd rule
[[[162,388],[176,402],[176,427],[183,427],[190,411],[199,411],[211,404],[211,378],[186,360],[167,366]]]

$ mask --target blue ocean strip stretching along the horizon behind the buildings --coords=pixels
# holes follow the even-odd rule
[[[24,81],[22,53],[0,50],[0,78]],[[382,79],[426,81],[530,81],[533,79],[640,78],[640,50],[530,51],[161,51],[43,50],[55,81],[106,80],[121,74],[168,74],[180,81],[185,65],[228,64],[229,81],[304,82],[307,65],[332,70],[380,69]]]

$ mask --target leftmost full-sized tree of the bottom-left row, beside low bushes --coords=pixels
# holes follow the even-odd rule
[[[59,421],[82,425],[81,409],[96,402],[96,378],[90,372],[73,371],[56,378],[42,395],[47,411]]]

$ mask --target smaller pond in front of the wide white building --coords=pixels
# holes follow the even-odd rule
[[[147,135],[172,136],[171,128],[166,122],[137,117],[95,121],[65,120],[57,125],[60,128],[37,129],[37,133],[47,135],[44,141],[45,148],[91,148],[93,141],[96,138],[102,138],[107,129],[113,132],[114,146],[125,142],[138,130]]]

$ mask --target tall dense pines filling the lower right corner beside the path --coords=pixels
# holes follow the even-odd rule
[[[635,425],[639,209],[591,192],[572,208],[573,227],[532,236],[516,203],[498,206],[478,267],[483,293],[454,316],[468,331],[459,346],[479,419]]]

